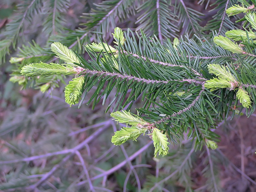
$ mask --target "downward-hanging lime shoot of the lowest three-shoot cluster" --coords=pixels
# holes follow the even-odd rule
[[[161,133],[159,129],[154,128],[152,131],[152,140],[154,142],[154,147],[155,147],[155,153],[154,153],[155,157],[157,153],[159,153],[159,155],[162,155],[162,156],[165,156],[168,154],[169,142],[165,134]]]

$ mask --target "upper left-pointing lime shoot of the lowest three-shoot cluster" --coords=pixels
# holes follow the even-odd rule
[[[130,113],[129,111],[116,111],[110,114],[111,117],[115,118],[115,121],[119,123],[129,124],[131,126],[137,126],[138,124],[146,125],[147,122],[143,121],[139,116]]]

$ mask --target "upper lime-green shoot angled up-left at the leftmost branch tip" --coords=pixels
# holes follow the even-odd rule
[[[52,43],[51,50],[57,55],[57,58],[60,58],[69,65],[74,65],[74,63],[80,63],[76,54],[71,49],[68,49],[67,46],[59,42]]]

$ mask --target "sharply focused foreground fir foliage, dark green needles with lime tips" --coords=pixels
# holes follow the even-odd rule
[[[246,5],[243,4],[244,6]],[[250,11],[251,8],[244,10],[243,7],[238,5],[230,7],[227,9],[228,16],[245,12],[244,18],[254,28],[256,15]],[[249,30],[253,29],[249,28]],[[254,44],[247,30],[245,32],[234,29],[231,31],[227,32],[231,39],[237,40],[240,33],[246,34],[244,39],[243,36],[240,36],[241,45],[247,44],[246,48],[250,48],[250,45]],[[211,128],[214,127],[213,118],[221,119],[222,114],[227,114],[233,105],[234,99],[229,98],[229,104],[224,106],[222,111],[223,107],[219,107],[220,102],[216,101],[223,98],[219,98],[218,95],[228,97],[231,92],[236,92],[235,100],[239,100],[244,108],[249,109],[247,110],[248,116],[254,111],[255,80],[251,79],[248,83],[242,77],[242,73],[246,73],[243,68],[252,68],[252,65],[247,63],[239,64],[239,66],[208,64],[208,72],[205,71],[203,74],[202,71],[206,69],[204,66],[200,66],[200,57],[195,56],[194,60],[182,57],[179,44],[176,48],[170,41],[163,45],[157,39],[148,38],[143,31],[141,31],[141,35],[138,35],[140,44],[135,44],[136,38],[130,37],[130,33],[132,33],[130,30],[124,33],[120,28],[115,28],[113,38],[116,46],[114,47],[103,42],[84,45],[85,51],[91,57],[90,60],[84,60],[76,52],[55,42],[51,44],[51,50],[56,57],[63,61],[62,65],[52,63],[47,66],[42,62],[31,63],[22,67],[21,75],[32,77],[76,73],[77,77],[69,82],[65,90],[66,102],[70,106],[78,103],[84,94],[80,102],[81,105],[86,93],[92,89],[93,85],[96,85],[97,89],[87,102],[88,104],[93,101],[92,108],[100,102],[102,97],[104,103],[114,88],[117,92],[114,110],[120,110],[127,105],[129,110],[132,103],[141,95],[142,100],[145,100],[145,105],[138,109],[140,116],[136,116],[136,118],[141,118],[141,120],[138,119],[136,124],[130,122],[135,117],[128,111],[117,111],[112,114],[117,121],[132,125],[131,128],[124,127],[117,131],[112,142],[115,145],[120,145],[129,139],[136,140],[141,133],[148,130],[149,137],[154,141],[155,155],[157,152],[160,155],[168,153],[169,142],[166,134],[176,142],[176,138],[180,137],[180,134],[189,131],[191,136],[194,135],[202,145],[205,142],[202,130],[211,132]],[[237,55],[233,55],[237,58],[236,60],[244,55],[254,57],[250,53],[253,52],[252,49],[243,50],[243,46],[239,46],[227,37],[215,36],[213,42],[216,46],[236,53]],[[214,76],[211,77],[211,74]],[[244,74],[244,76],[247,75]],[[210,80],[207,80],[209,77]],[[126,98],[128,89],[131,89],[131,92]],[[216,90],[221,92],[211,94],[208,89],[211,92]],[[223,89],[224,92],[225,89],[228,89],[229,92],[223,94]],[[252,96],[246,91],[247,89]],[[179,94],[179,92],[182,93]],[[212,113],[209,113],[209,109]],[[212,125],[209,125],[209,122],[212,122]],[[216,138],[211,138],[210,134],[207,139],[216,140]]]

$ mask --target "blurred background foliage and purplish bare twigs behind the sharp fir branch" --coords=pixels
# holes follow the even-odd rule
[[[123,15],[119,11],[104,19],[115,5],[125,1],[127,4],[123,6],[129,9]],[[54,77],[54,84],[44,94],[29,86],[21,90],[22,81],[20,85],[9,81],[10,74],[17,72],[17,65],[20,68],[20,64],[39,57],[52,60],[47,51],[54,40],[83,53],[81,44],[98,41],[99,36],[112,42],[110,34],[116,25],[124,30],[143,29],[148,36],[156,34],[157,10],[152,5],[156,1],[144,1],[140,6],[132,0],[110,0],[103,4],[101,0],[36,1],[38,7],[28,12],[28,18],[22,17],[24,12],[20,9],[26,5],[26,12],[31,2],[0,2],[1,191],[148,192],[152,187],[156,187],[153,191],[172,192],[256,191],[256,158],[254,149],[248,147],[256,145],[256,124],[248,122],[244,116],[220,123],[217,133],[221,141],[215,151],[208,148],[194,151],[191,140],[185,140],[181,147],[171,146],[168,156],[153,158],[153,144],[147,137],[113,146],[110,139],[113,132],[120,129],[120,124],[117,126],[109,113],[105,114],[107,106],[98,104],[94,110],[85,104],[79,109],[70,108],[64,100],[64,84],[54,82]],[[167,1],[160,1],[164,4],[162,16],[165,19],[169,10],[180,12],[180,20],[174,21],[175,25],[169,22],[166,27],[163,23],[162,38],[189,36],[193,30],[198,36],[207,30],[223,34],[227,29],[236,28],[230,24],[232,19],[223,16],[226,5],[236,1],[190,0],[184,1],[186,6],[183,7],[182,2],[178,1],[175,11],[165,6]],[[209,12],[212,8],[215,9]],[[225,19],[223,29],[218,27],[221,19]],[[15,20],[17,22],[13,22]],[[22,27],[18,21],[22,22]],[[8,26],[8,23],[13,25]],[[36,50],[40,47],[45,53],[38,56]],[[8,60],[17,54],[27,58],[20,64],[11,64]],[[66,83],[68,80],[63,77]],[[114,97],[115,93],[108,97],[108,102]],[[139,100],[135,103],[135,108],[137,106],[140,106]]]

